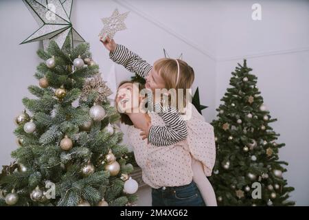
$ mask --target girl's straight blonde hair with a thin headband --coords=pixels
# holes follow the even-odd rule
[[[177,62],[172,58],[161,58],[154,63],[153,68],[159,75],[163,78],[165,82],[166,89],[176,89],[177,94],[178,89],[183,89],[183,107],[186,104],[186,89],[190,89],[194,82],[194,70],[190,65],[185,63],[180,59],[177,59],[179,62],[179,80],[177,81],[178,66]],[[178,99],[177,99],[178,100]],[[177,104],[177,106],[179,106]],[[182,110],[182,109],[179,109]]]

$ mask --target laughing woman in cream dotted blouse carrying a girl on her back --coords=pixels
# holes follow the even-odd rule
[[[128,128],[129,142],[142,169],[144,182],[152,187],[152,206],[205,206],[204,195],[207,205],[216,206],[214,190],[205,177],[211,175],[215,160],[214,138],[204,138],[214,136],[212,126],[204,122],[203,116],[193,107],[192,117],[187,123],[187,140],[170,146],[149,144],[140,137],[141,130],[149,127],[150,123],[159,126],[165,124],[156,113],[146,113],[145,108],[142,108],[145,107],[146,98],[140,96],[143,94],[139,92],[141,89],[137,83],[122,82],[117,91],[116,104],[122,122],[131,125]],[[194,167],[202,171],[196,175],[192,172]],[[196,186],[202,181],[203,197],[198,190],[201,187]]]

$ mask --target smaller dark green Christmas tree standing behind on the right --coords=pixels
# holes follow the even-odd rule
[[[263,104],[256,86],[257,77],[244,64],[232,72],[230,85],[211,122],[216,133],[217,159],[211,182],[219,206],[293,206],[288,201],[282,177],[288,165],[279,161],[277,143],[270,126],[275,122]]]

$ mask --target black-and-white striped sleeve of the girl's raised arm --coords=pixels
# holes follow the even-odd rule
[[[123,65],[128,71],[146,78],[152,66],[144,61],[139,55],[131,52],[124,45],[117,44],[114,52],[109,57],[117,64]]]

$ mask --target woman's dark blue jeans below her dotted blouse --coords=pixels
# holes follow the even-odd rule
[[[194,181],[185,186],[152,188],[152,206],[205,206]]]

